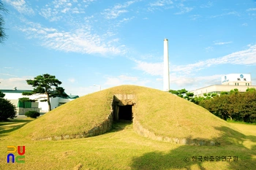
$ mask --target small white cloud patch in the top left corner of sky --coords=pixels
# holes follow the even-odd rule
[[[11,1],[11,0],[4,0],[8,4],[12,5],[18,12],[26,14],[26,15],[34,15],[34,10],[29,7],[28,4],[26,4],[25,0],[16,0],[16,1]]]

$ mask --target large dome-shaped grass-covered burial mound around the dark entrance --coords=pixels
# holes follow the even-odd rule
[[[24,125],[15,134],[31,139],[81,134],[110,114],[114,94],[134,94],[133,117],[159,136],[234,142],[241,137],[224,120],[173,94],[134,85],[121,85],[70,101]]]

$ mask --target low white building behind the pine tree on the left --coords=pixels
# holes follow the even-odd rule
[[[0,90],[0,91],[5,94],[4,98],[11,101],[12,104],[16,106],[18,114],[23,115],[25,114],[25,112],[28,112],[29,110],[37,111],[40,113],[48,112],[48,102],[40,101],[40,100],[46,99],[46,95],[34,94],[31,96],[23,96],[22,95],[23,92],[31,92],[31,90],[17,90],[17,88],[14,88],[12,90]],[[67,98],[61,98],[61,97],[50,98],[51,109],[55,109],[56,107],[59,107],[62,104],[72,101],[78,97],[79,96],[70,95]],[[35,99],[38,99],[38,100],[36,102],[31,102],[31,104],[22,104],[19,101],[19,98],[29,98],[32,100],[35,100]]]

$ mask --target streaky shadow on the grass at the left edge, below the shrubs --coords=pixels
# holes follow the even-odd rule
[[[0,121],[0,137],[6,136],[5,134],[19,129],[31,121],[32,119],[13,119]]]

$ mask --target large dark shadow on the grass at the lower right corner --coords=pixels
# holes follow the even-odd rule
[[[133,158],[132,169],[255,169],[256,145],[252,149],[244,147],[245,139],[255,142],[255,136],[245,136],[231,128],[216,128],[223,135],[219,141],[233,142],[236,144],[220,144],[219,146],[191,146],[180,145],[169,152],[147,152],[144,155]],[[231,139],[235,136],[235,139]],[[226,156],[226,161],[225,161]],[[236,161],[236,158],[238,160]],[[218,157],[220,157],[218,161]],[[211,159],[210,159],[211,158]],[[231,158],[230,160],[227,158]],[[228,161],[229,160],[229,161]],[[219,163],[228,163],[220,164]]]

